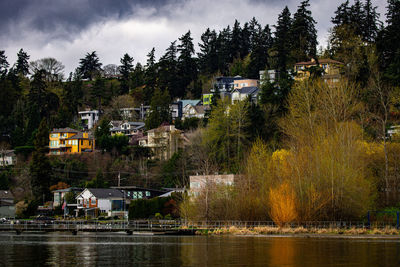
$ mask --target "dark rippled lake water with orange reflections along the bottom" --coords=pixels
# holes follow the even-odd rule
[[[400,266],[399,239],[0,233],[0,266]]]

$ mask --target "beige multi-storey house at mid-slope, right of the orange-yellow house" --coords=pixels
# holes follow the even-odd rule
[[[174,125],[161,125],[148,130],[147,136],[139,139],[139,146],[150,148],[155,158],[168,160],[181,146],[181,133]]]

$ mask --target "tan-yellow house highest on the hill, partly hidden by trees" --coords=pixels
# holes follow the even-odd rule
[[[343,67],[343,63],[330,58],[319,59],[318,63],[315,59],[311,61],[298,62],[294,64],[294,71],[296,76],[294,79],[296,81],[302,81],[310,77],[310,67],[319,66],[322,69],[322,79],[329,83],[336,83],[340,81],[340,69]]]

